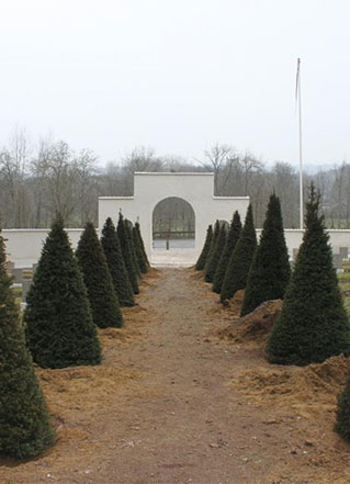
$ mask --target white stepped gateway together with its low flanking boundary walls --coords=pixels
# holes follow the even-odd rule
[[[202,249],[206,228],[217,218],[229,222],[238,210],[244,222],[249,203],[248,196],[214,196],[214,173],[135,173],[134,196],[101,196],[99,199],[99,230],[106,217],[117,222],[120,210],[132,222],[137,218],[142,226],[148,258],[154,264],[193,263]],[[168,198],[185,200],[193,209],[195,218],[194,249],[153,250],[153,213],[156,205]],[[8,258],[16,268],[31,267],[37,262],[48,228],[9,228],[2,235],[7,243]],[[76,248],[82,228],[67,228],[72,247]],[[261,229],[257,229],[258,237]],[[350,229],[328,230],[330,243],[339,263],[348,257]],[[300,247],[303,230],[284,230],[291,258]]]

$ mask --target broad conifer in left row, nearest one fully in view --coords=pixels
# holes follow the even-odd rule
[[[25,336],[37,364],[65,368],[100,363],[87,288],[60,216],[44,244],[26,303]]]

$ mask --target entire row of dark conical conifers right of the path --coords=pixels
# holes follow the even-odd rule
[[[306,205],[305,233],[293,272],[289,263],[279,199],[270,196],[259,244],[251,206],[244,227],[234,214],[229,230],[215,224],[195,268],[204,271],[213,291],[225,302],[245,289],[240,315],[264,301],[283,299],[280,316],[268,340],[266,354],[271,363],[306,365],[336,354],[350,354],[350,323],[336,270],[319,193],[312,184]],[[338,397],[335,426],[350,441],[350,383]]]

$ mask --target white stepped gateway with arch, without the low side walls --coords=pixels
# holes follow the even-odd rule
[[[168,198],[188,202],[195,217],[194,249],[153,250],[153,213]],[[138,220],[147,256],[153,263],[193,263],[204,244],[206,229],[216,220],[230,222],[237,210],[244,222],[249,196],[214,196],[214,173],[134,173],[134,196],[100,196],[99,227],[106,217],[117,223],[118,212],[132,222]]]

